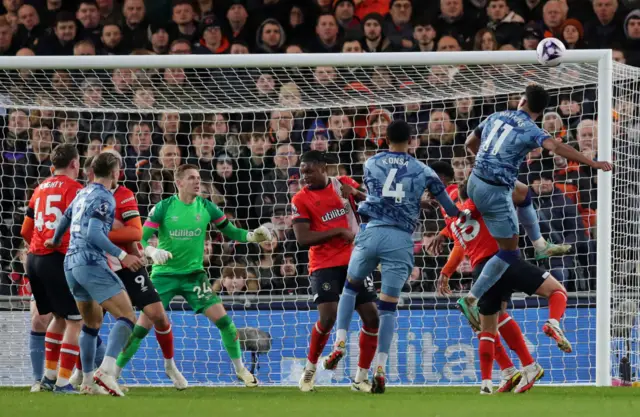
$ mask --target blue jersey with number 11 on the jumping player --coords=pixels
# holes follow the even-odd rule
[[[480,150],[473,172],[481,179],[513,187],[527,154],[551,136],[523,111],[494,113],[476,128]]]

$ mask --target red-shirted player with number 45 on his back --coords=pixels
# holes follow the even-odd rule
[[[64,211],[82,185],[78,150],[69,144],[58,145],[51,153],[53,175],[34,191],[21,234],[29,243],[26,272],[40,314],[53,313],[44,337],[45,371],[41,388],[56,392],[75,391],[69,379],[79,355],[78,337],[82,317],[69,291],[64,273],[64,256],[69,234],[61,236],[60,246],[45,246],[52,238]],[[91,384],[93,385],[93,384]],[[88,387],[83,387],[88,388]]]

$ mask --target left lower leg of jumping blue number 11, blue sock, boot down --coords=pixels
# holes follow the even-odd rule
[[[482,273],[471,287],[469,294],[459,298],[457,301],[458,308],[475,331],[480,331],[480,318],[477,308],[478,299],[487,292],[493,284],[498,282],[511,263],[520,258],[518,235],[513,235],[510,238],[496,238],[495,236],[494,238],[500,248],[498,253],[493,255],[486,263],[482,269]]]

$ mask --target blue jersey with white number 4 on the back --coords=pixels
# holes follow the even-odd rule
[[[413,233],[420,217],[420,199],[425,190],[434,196],[445,186],[436,173],[406,153],[383,151],[364,164],[367,199],[358,213],[370,226],[395,226]]]

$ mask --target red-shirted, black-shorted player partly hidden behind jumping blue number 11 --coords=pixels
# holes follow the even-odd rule
[[[476,205],[469,199],[466,192],[467,184],[461,184],[459,189],[461,213],[457,219],[447,219],[447,229],[451,230],[455,241],[463,249],[464,254],[470,258],[473,276],[477,278],[484,265],[498,252],[499,248],[496,240],[489,233]],[[438,235],[431,242],[429,250],[439,253],[444,240],[444,235]],[[448,280],[448,278],[446,279]],[[443,284],[439,286],[443,286]],[[446,286],[446,282],[444,286]],[[544,375],[542,367],[531,356],[520,327],[505,311],[511,295],[517,291],[529,295],[536,294],[549,300],[549,319],[543,327],[544,332],[556,341],[563,352],[570,353],[572,351],[571,343],[559,327],[559,321],[567,308],[565,288],[549,272],[527,263],[523,259],[518,259],[507,268],[502,278],[479,301],[480,327],[474,328],[474,330],[479,332],[478,338],[480,339],[478,350],[482,373],[480,391],[482,394],[493,393],[491,369],[494,358],[498,359],[502,370],[502,380],[498,392],[508,392],[514,388],[516,393],[526,392]],[[555,327],[555,331],[551,331],[552,326]],[[500,343],[498,331],[520,358],[523,366],[521,372],[513,366],[506,355]]]

